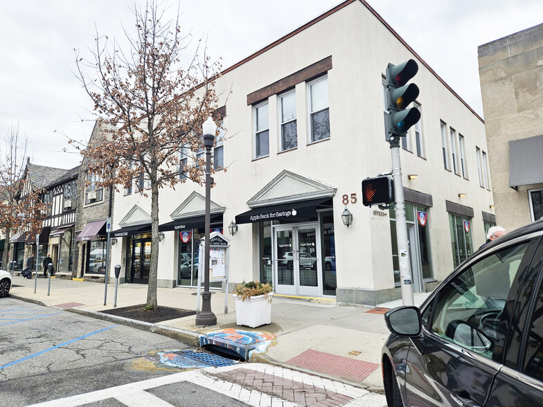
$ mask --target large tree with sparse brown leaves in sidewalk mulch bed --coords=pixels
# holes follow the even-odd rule
[[[147,307],[157,307],[159,259],[159,190],[174,188],[188,179],[203,182],[204,161],[195,153],[202,148],[202,123],[217,107],[213,79],[220,71],[199,51],[183,67],[188,36],[181,36],[179,13],[163,21],[164,10],[154,0],[144,8],[134,4],[136,35],[125,30],[130,44],[118,44],[96,33],[96,48],[89,60],[76,51],[78,78],[94,101],[94,109],[107,125],[105,142],[86,146],[82,154],[97,186],[127,188],[143,177],[142,193],[151,197],[151,259]],[[87,73],[90,71],[90,74]],[[193,156],[181,161],[181,150]]]

